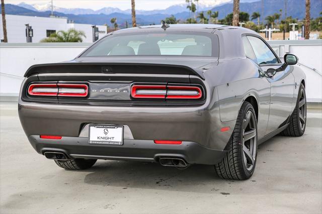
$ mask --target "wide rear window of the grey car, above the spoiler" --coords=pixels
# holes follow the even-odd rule
[[[86,56],[214,56],[218,38],[210,33],[139,33],[110,35],[87,51]]]

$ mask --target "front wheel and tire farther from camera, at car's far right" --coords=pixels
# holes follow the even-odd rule
[[[289,126],[281,133],[284,136],[300,137],[306,127],[306,94],[303,83],[300,84],[294,112],[290,117]]]

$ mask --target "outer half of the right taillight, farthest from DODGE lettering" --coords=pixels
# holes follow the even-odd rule
[[[197,86],[167,86],[167,99],[200,99],[202,91]]]

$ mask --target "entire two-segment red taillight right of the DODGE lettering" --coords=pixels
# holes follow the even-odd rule
[[[133,98],[200,99],[202,89],[186,85],[132,85]]]

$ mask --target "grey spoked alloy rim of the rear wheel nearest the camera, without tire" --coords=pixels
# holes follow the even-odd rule
[[[243,121],[243,155],[244,163],[248,171],[255,165],[257,152],[256,119],[252,111],[248,111]]]

